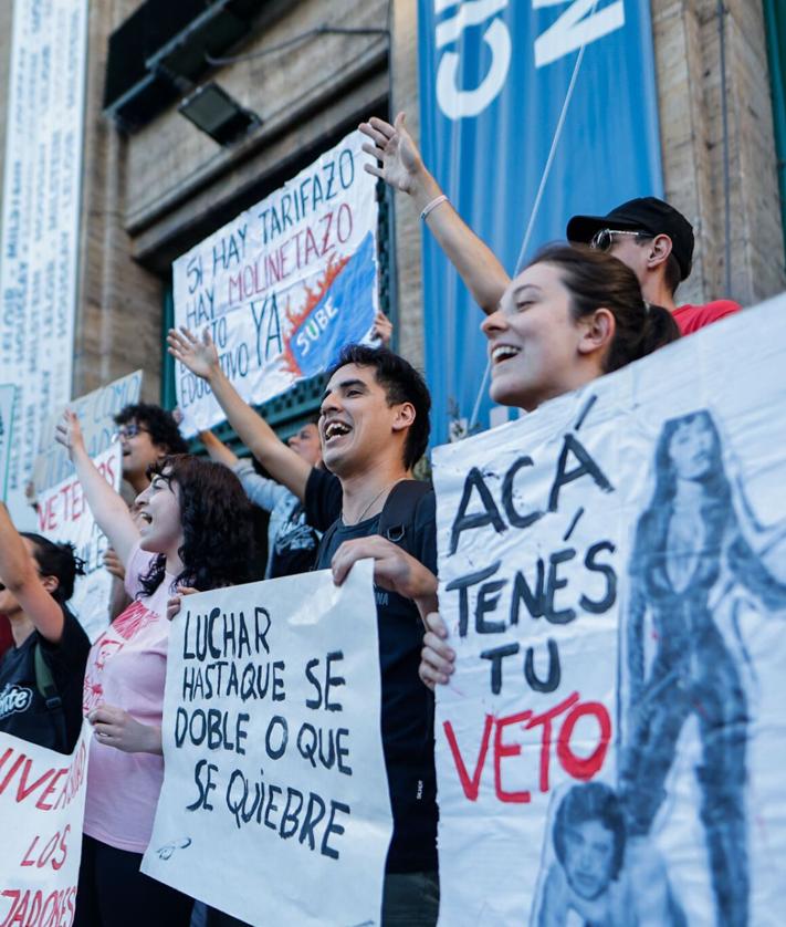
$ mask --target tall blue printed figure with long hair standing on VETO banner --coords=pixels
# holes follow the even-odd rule
[[[678,740],[695,716],[699,813],[715,923],[745,925],[750,714],[743,675],[752,662],[734,593],[743,586],[766,613],[786,608],[786,525],[764,529],[756,522],[742,485],[726,475],[706,410],[666,421],[653,469],[652,499],[636,528],[621,629],[619,778],[628,839],[641,843],[658,830]]]

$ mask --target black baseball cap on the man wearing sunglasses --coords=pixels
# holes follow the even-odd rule
[[[568,241],[589,244],[600,229],[642,231],[648,235],[668,235],[671,253],[680,265],[681,280],[691,272],[693,262],[693,226],[673,206],[658,197],[630,199],[606,216],[574,216],[567,225]]]

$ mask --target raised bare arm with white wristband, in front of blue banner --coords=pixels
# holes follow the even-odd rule
[[[394,189],[408,194],[418,212],[442,196],[439,184],[429,174],[407,132],[404,113],[396,116],[395,125],[373,116],[367,123],[360,123],[359,129],[371,139],[363,150],[381,163],[381,167],[365,165],[368,174],[381,177]],[[426,225],[478,305],[486,314],[494,312],[511,279],[491,249],[447,200],[428,213]]]

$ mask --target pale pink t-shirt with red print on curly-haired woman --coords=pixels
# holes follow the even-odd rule
[[[134,549],[126,569],[126,591],[132,598],[154,556],[138,545]],[[160,726],[170,627],[167,598],[174,579],[167,573],[151,596],[132,602],[91,648],[85,714],[105,702],[124,708],[144,725]],[[144,853],[163,781],[163,757],[124,753],[93,737],[84,832],[118,850]]]

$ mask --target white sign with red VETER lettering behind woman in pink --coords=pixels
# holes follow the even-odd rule
[[[112,445],[93,462],[109,486],[119,491],[122,479],[120,446]],[[84,561],[85,575],[77,576],[69,607],[80,619],[91,640],[106,631],[109,623],[112,574],[104,566],[109,546],[82,492],[82,483],[69,477],[39,497],[39,532],[50,541],[69,541],[76,556]]]

